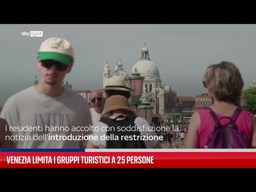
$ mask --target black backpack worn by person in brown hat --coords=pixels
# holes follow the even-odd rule
[[[124,118],[122,120],[117,120],[118,118]],[[121,129],[122,127],[137,127],[134,124],[134,120],[136,119],[136,116],[118,116],[114,119],[112,118],[106,118],[103,120],[100,120],[100,122],[103,122],[104,124],[107,124],[108,127],[114,127],[114,129],[110,129],[107,131],[107,136],[118,136],[118,140],[106,140],[106,148],[107,149],[145,149],[146,145],[144,141],[142,140],[121,140],[122,136],[140,136],[139,131],[118,131],[118,126]],[[120,130],[119,129],[119,130]]]

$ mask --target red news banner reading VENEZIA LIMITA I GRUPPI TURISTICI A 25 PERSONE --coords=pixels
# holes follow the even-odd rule
[[[256,152],[0,152],[0,168],[256,168]]]

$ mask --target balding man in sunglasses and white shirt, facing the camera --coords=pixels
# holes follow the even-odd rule
[[[100,120],[105,105],[105,98],[103,97],[102,92],[93,90],[90,94],[90,103],[92,106],[92,108],[90,108],[92,124],[94,125]]]

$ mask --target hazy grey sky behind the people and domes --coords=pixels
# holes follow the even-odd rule
[[[22,36],[30,31],[43,31],[43,37]],[[54,36],[66,38],[74,47],[74,67],[65,78],[73,89],[102,88],[106,60],[111,74],[120,59],[130,74],[144,42],[162,84],[170,84],[178,96],[205,92],[206,67],[222,60],[240,68],[248,88],[256,78],[255,32],[255,24],[1,24],[0,105],[33,86],[35,76],[40,79],[37,51]]]

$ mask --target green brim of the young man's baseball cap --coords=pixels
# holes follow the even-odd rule
[[[56,53],[56,52],[39,52],[38,58],[40,61],[49,60],[49,59],[56,60],[65,65],[69,65],[73,60],[71,56],[64,55],[61,53]]]

